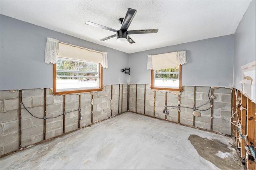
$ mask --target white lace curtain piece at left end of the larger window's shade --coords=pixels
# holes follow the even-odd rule
[[[46,39],[44,61],[45,63],[55,64],[58,60],[59,41],[53,38]]]

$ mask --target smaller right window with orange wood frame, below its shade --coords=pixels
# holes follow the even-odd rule
[[[167,69],[151,70],[151,88],[180,91],[181,65]]]

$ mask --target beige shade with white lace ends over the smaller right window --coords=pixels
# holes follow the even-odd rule
[[[178,67],[186,63],[186,51],[148,55],[147,69],[158,70]]]

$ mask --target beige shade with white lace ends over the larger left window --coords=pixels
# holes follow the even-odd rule
[[[59,42],[53,38],[47,38],[45,48],[45,63],[55,64],[58,57],[101,63],[103,68],[108,68],[107,52],[95,51],[93,49]]]

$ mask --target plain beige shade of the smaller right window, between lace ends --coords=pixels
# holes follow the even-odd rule
[[[153,70],[178,67],[177,51],[172,53],[163,53],[152,55]]]

